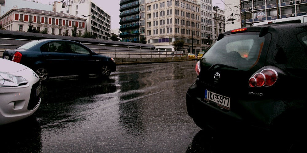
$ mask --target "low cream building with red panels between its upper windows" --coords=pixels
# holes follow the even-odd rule
[[[74,26],[78,34],[85,32],[85,19],[67,15],[66,13],[54,13],[39,9],[11,9],[0,17],[0,24],[6,30],[27,32],[30,26],[39,31],[47,31],[52,35],[72,34]]]

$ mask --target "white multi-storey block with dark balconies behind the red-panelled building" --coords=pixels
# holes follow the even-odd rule
[[[91,0],[67,0],[53,4],[53,10],[58,13],[69,13],[86,19],[86,30],[97,39],[109,40],[111,36],[111,16],[95,5]]]

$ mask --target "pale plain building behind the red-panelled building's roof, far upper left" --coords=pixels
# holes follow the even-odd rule
[[[11,9],[40,9],[45,11],[52,11],[52,5],[41,4],[38,0],[1,0],[0,1],[0,17]]]

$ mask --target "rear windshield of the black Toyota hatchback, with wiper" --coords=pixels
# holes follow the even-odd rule
[[[216,41],[203,58],[210,64],[224,64],[248,70],[258,61],[264,39],[256,32],[226,35]]]

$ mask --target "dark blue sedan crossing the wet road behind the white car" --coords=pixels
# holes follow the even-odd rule
[[[35,40],[17,49],[6,49],[2,58],[28,66],[41,81],[66,75],[107,77],[116,69],[113,58],[97,54],[81,43],[60,39]]]

